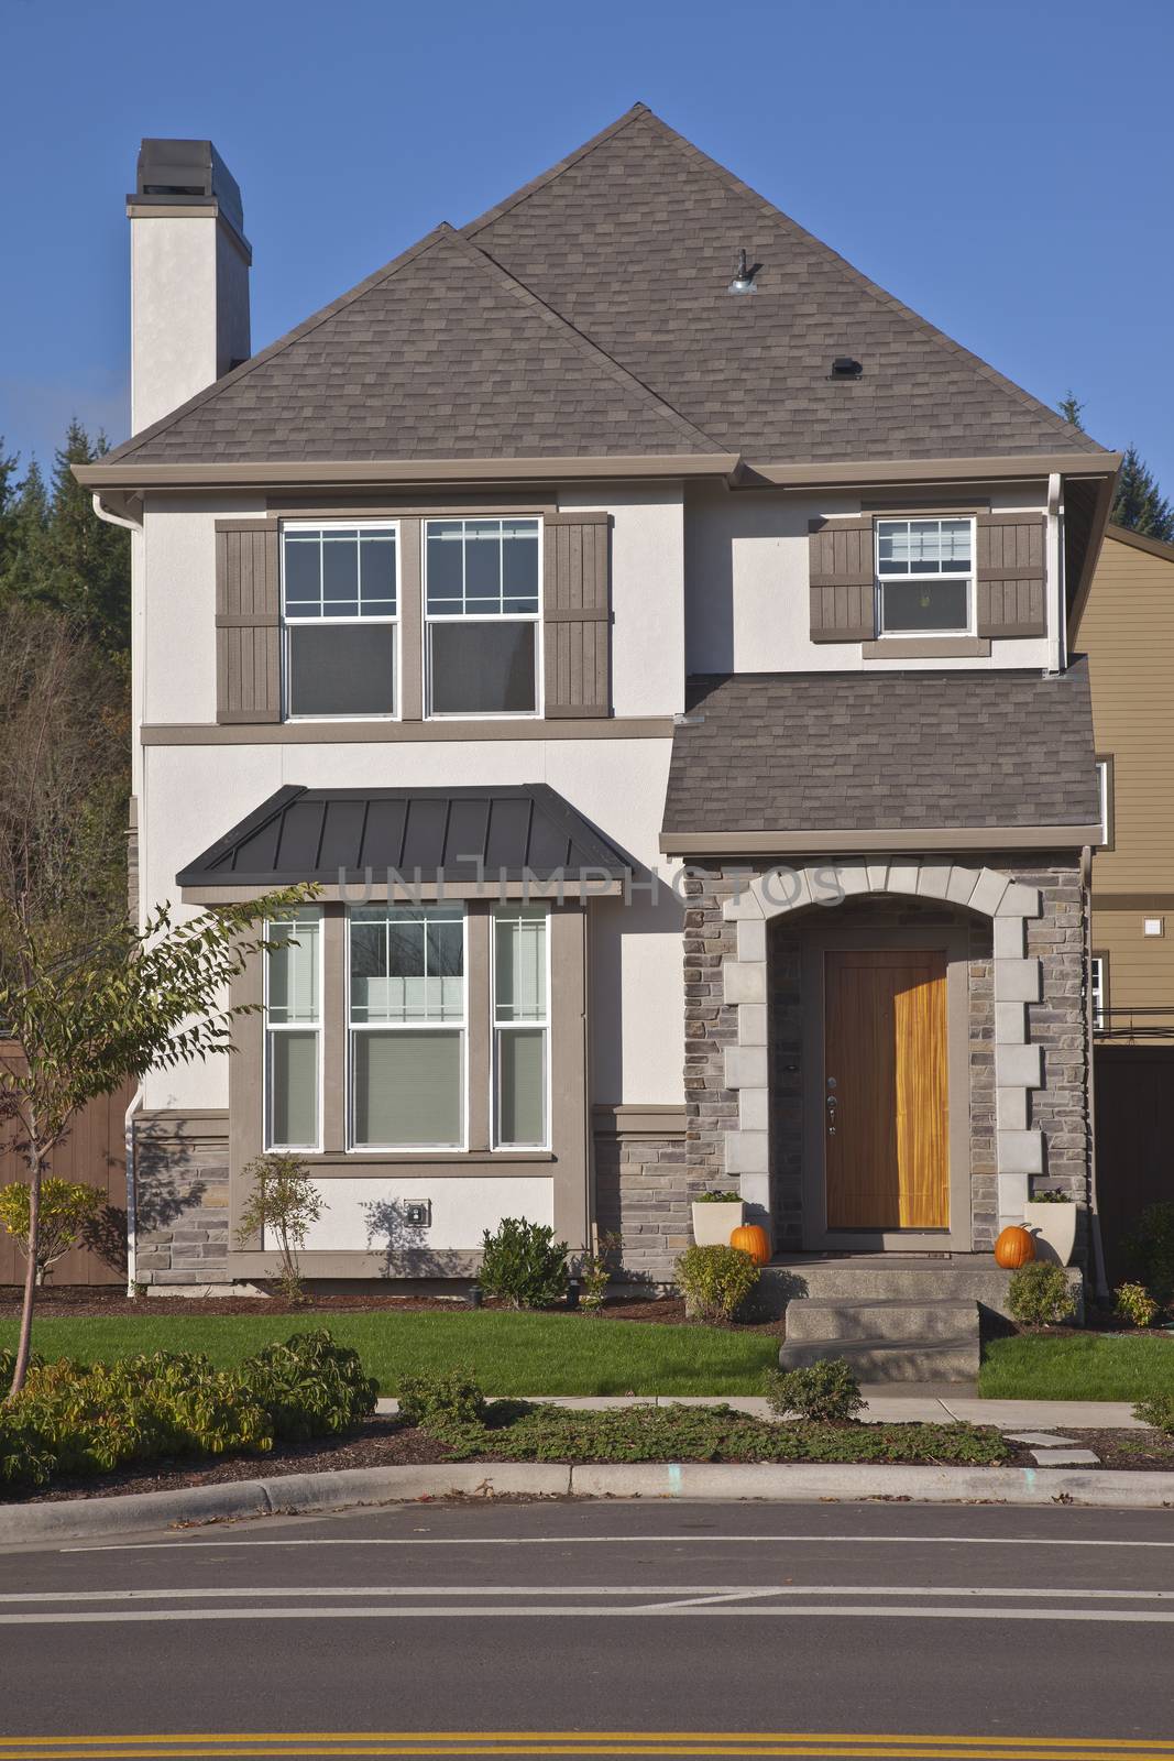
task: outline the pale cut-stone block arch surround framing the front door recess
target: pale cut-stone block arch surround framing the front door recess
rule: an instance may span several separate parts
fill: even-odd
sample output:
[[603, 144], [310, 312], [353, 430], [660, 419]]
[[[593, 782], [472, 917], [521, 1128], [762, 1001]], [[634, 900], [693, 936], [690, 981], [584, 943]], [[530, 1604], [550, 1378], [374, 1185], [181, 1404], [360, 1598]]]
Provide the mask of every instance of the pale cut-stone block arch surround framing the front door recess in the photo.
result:
[[725, 1169], [739, 1176], [750, 1205], [769, 1212], [767, 925], [794, 912], [833, 912], [850, 898], [894, 895], [940, 900], [991, 919], [998, 1215], [1000, 1227], [1023, 1222], [1030, 1176], [1044, 1168], [1042, 1132], [1030, 1125], [1028, 1099], [1042, 1085], [1042, 1048], [1030, 1043], [1026, 1011], [1042, 997], [1040, 962], [1026, 953], [1026, 925], [1040, 916], [1040, 893], [993, 868], [908, 858], [778, 866], [748, 877], [725, 902], [723, 917], [737, 933], [736, 958], [722, 963], [723, 998], [737, 1014], [737, 1043], [725, 1048], [725, 1085], [737, 1094]]

